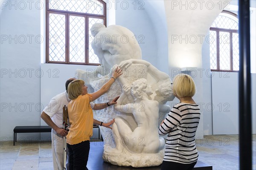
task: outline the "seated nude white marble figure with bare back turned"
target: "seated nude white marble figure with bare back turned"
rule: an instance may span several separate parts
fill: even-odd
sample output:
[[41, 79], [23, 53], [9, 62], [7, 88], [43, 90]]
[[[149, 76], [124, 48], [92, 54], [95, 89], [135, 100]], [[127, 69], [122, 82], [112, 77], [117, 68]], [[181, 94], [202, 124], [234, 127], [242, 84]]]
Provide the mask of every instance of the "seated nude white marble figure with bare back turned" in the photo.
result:
[[[123, 87], [123, 94], [129, 93], [128, 85]], [[123, 113], [132, 113], [137, 127], [132, 130], [122, 118], [116, 118], [112, 125], [116, 148], [107, 153], [122, 153], [125, 148], [131, 153], [158, 153], [165, 146], [165, 141], [159, 137], [158, 126], [158, 102], [148, 99], [152, 94], [151, 86], [146, 79], [138, 79], [131, 84], [131, 95], [134, 103], [125, 105], [116, 104], [116, 110]], [[120, 96], [122, 99], [122, 96]]]

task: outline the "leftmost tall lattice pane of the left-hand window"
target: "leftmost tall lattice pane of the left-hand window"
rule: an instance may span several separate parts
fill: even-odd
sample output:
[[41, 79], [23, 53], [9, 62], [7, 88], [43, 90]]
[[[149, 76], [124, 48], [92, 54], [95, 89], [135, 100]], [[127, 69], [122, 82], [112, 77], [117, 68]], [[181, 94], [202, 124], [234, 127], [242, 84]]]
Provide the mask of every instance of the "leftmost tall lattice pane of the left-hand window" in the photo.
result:
[[49, 61], [65, 61], [65, 15], [49, 14]]

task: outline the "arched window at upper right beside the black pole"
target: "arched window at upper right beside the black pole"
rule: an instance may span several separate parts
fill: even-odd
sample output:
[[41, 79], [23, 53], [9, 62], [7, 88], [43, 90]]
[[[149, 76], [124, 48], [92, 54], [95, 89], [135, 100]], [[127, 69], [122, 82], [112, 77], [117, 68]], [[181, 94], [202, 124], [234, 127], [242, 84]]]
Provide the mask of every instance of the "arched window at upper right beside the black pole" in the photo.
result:
[[212, 71], [239, 71], [238, 18], [222, 11], [210, 28]]

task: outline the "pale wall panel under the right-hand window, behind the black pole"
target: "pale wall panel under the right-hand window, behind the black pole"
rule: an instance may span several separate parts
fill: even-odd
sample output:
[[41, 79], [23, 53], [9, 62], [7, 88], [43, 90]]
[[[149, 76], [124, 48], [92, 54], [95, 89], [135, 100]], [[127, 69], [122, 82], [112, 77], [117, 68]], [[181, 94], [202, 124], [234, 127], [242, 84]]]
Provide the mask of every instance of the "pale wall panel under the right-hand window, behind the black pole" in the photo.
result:
[[[252, 133], [256, 133], [256, 74], [252, 79]], [[239, 75], [235, 72], [213, 72], [212, 74], [212, 122], [213, 134], [239, 133]]]

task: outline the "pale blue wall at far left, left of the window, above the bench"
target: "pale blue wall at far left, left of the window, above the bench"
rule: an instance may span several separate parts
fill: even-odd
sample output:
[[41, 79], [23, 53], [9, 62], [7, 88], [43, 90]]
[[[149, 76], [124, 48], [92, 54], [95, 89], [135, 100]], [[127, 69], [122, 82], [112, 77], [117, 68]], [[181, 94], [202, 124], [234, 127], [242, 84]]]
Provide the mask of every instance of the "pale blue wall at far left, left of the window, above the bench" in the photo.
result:
[[[3, 2], [3, 1], [2, 1]], [[4, 1], [0, 16], [0, 136], [12, 140], [13, 128], [19, 125], [40, 125], [40, 9], [33, 1]], [[38, 36], [38, 37], [37, 37]], [[40, 134], [18, 134], [17, 139]], [[23, 140], [21, 139], [21, 140]]]

